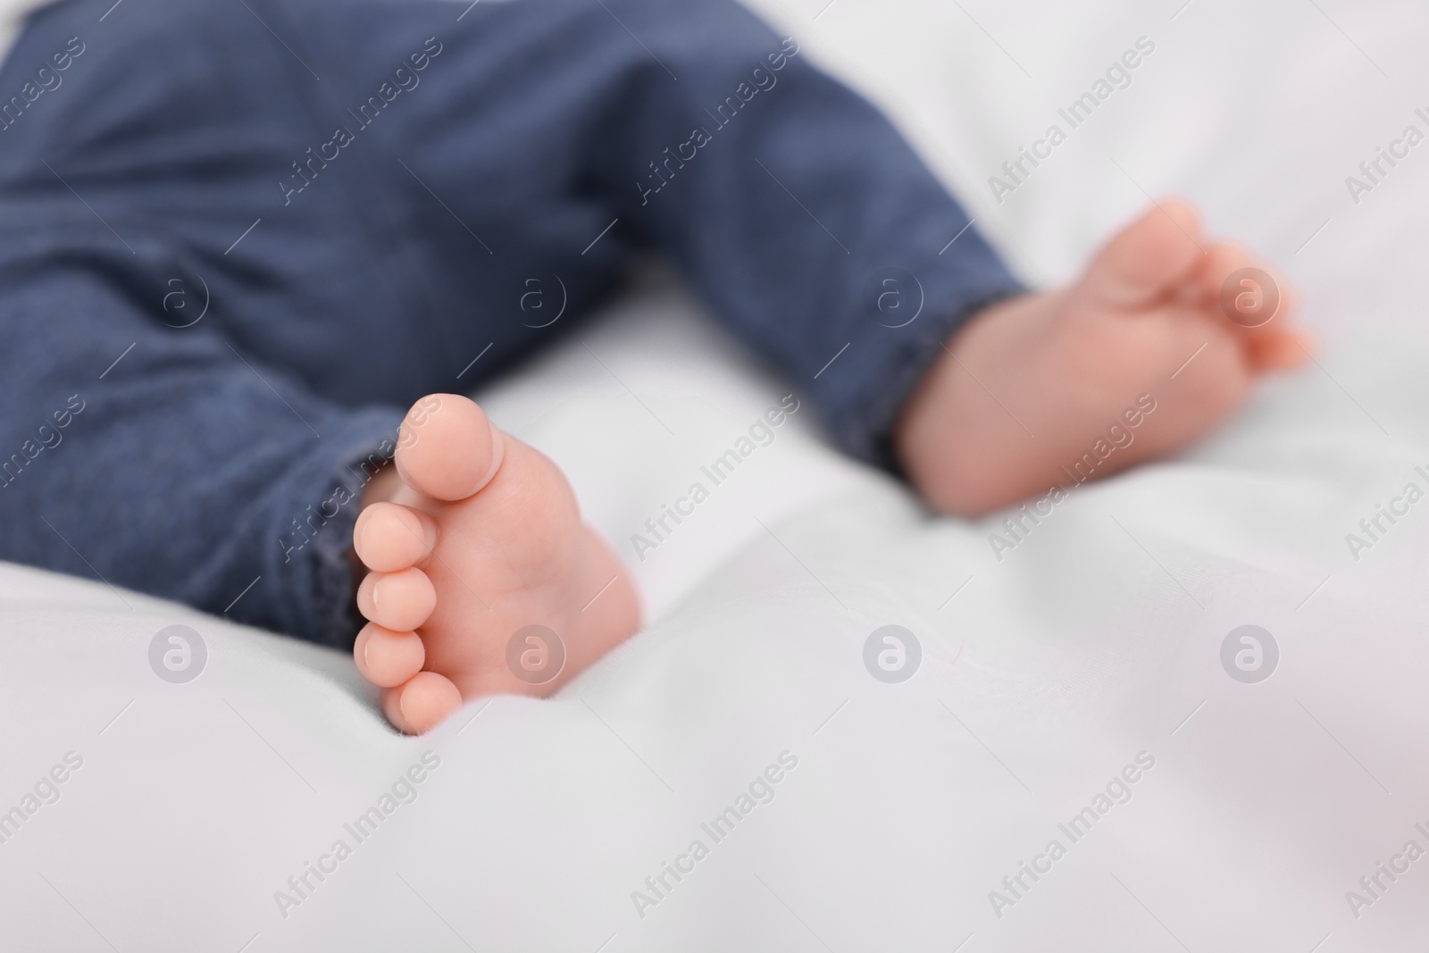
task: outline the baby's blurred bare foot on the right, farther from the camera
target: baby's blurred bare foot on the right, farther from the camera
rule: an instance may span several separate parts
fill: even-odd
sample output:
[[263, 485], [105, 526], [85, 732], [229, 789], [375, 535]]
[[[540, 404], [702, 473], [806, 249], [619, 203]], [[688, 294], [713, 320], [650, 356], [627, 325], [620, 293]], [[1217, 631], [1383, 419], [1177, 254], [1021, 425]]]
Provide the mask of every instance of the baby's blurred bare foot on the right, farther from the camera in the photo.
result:
[[1095, 476], [1193, 441], [1256, 373], [1309, 357], [1283, 283], [1259, 327], [1222, 309], [1222, 286], [1252, 266], [1246, 251], [1205, 239], [1189, 206], [1167, 201], [1112, 239], [1076, 284], [986, 309], [905, 404], [895, 447], [913, 483], [942, 510], [979, 514], [1080, 482], [1067, 467], [1099, 441], [1105, 451], [1112, 424], [1125, 439], [1123, 414], [1143, 394], [1140, 409], [1155, 401], [1155, 413], [1135, 416], [1130, 443]]

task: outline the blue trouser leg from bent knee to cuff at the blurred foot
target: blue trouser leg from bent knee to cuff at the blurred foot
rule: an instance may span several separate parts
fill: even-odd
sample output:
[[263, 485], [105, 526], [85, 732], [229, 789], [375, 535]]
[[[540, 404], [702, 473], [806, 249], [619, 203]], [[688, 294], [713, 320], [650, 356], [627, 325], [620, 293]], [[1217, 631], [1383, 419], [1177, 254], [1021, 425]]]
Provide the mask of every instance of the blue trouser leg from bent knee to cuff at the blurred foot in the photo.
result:
[[813, 394], [840, 447], [893, 466], [895, 417], [942, 343], [1022, 284], [889, 120], [796, 39], [735, 3], [612, 9], [649, 49], [597, 134], [617, 209]]

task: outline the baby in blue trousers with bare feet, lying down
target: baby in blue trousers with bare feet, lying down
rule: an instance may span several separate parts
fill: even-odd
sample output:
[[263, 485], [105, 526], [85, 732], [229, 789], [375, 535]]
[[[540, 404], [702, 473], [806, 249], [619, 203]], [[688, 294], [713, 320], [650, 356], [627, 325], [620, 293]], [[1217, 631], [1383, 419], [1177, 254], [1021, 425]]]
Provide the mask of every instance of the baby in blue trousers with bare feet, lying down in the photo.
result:
[[[0, 70], [0, 557], [353, 646], [413, 733], [640, 624], [556, 466], [452, 393], [640, 254], [945, 513], [1063, 483], [1142, 394], [1096, 476], [1172, 451], [1306, 359], [1179, 201], [1026, 293], [733, 0], [70, 0]], [[895, 271], [925, 306], [890, 327]], [[523, 320], [556, 277], [570, 317]], [[526, 630], [566, 653], [540, 686]]]

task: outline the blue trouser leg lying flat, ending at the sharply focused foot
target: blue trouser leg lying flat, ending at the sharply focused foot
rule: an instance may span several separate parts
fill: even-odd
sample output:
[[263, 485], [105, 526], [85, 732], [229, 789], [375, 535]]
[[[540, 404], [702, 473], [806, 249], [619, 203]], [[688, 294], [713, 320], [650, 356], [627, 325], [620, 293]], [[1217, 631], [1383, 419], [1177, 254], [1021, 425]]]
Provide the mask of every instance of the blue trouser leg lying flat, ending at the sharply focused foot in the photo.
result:
[[[131, 256], [59, 230], [0, 231], [0, 554], [350, 646], [352, 529], [402, 411], [316, 397], [217, 323], [164, 327], [113, 277]], [[176, 324], [203, 306], [183, 293]]]

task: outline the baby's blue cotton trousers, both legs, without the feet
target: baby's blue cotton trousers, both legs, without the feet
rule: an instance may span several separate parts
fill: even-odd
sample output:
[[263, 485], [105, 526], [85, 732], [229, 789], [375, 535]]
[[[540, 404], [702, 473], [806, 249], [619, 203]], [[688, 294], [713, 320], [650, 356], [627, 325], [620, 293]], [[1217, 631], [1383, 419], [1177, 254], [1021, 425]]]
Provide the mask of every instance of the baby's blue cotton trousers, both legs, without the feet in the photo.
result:
[[[885, 466], [942, 341], [1019, 290], [733, 0], [67, 0], [14, 90], [0, 557], [324, 644], [356, 633], [352, 527], [403, 409], [579, 327], [637, 256]], [[549, 273], [572, 317], [533, 329]]]

